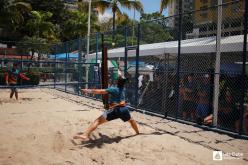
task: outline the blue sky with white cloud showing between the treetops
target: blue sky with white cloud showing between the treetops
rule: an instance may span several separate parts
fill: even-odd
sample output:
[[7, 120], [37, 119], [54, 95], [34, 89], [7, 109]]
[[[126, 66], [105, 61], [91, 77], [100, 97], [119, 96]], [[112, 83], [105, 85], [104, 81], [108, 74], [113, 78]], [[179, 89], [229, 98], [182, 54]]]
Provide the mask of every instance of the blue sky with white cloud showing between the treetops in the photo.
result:
[[[159, 11], [160, 0], [140, 0], [140, 1], [144, 6], [145, 13], [153, 13]], [[130, 18], [134, 17], [133, 10], [122, 9], [122, 11], [127, 13]], [[163, 14], [167, 16], [168, 15], [167, 10], [165, 10]], [[107, 11], [104, 14], [104, 17], [112, 17], [111, 11]], [[139, 18], [140, 18], [140, 14], [138, 12], [135, 12], [135, 19], [139, 20]]]

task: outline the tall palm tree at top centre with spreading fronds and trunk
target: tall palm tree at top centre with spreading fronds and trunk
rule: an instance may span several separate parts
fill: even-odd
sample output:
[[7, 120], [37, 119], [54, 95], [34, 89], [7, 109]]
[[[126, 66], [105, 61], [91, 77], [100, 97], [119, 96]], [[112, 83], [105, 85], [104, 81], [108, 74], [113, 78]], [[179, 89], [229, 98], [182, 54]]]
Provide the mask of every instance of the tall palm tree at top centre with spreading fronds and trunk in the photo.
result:
[[113, 30], [115, 30], [115, 18], [121, 17], [121, 7], [127, 9], [135, 9], [139, 12], [143, 12], [143, 5], [139, 0], [99, 0], [93, 1], [92, 5], [96, 7], [97, 11], [103, 14], [107, 9], [111, 9], [113, 13]]

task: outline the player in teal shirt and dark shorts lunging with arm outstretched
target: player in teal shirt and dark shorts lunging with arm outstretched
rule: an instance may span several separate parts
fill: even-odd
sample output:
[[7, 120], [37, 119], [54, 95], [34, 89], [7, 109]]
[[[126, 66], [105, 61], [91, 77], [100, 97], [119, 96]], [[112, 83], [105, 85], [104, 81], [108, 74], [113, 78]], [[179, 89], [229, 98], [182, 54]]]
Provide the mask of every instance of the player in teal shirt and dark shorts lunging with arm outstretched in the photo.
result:
[[107, 89], [82, 89], [84, 93], [93, 94], [108, 94], [109, 108], [98, 117], [83, 134], [77, 134], [73, 138], [81, 141], [89, 140], [90, 134], [101, 124], [115, 119], [122, 119], [124, 122], [128, 121], [136, 134], [139, 134], [139, 129], [136, 121], [131, 117], [129, 108], [126, 106], [124, 98], [124, 84], [126, 79], [119, 77], [117, 87], [109, 87]]

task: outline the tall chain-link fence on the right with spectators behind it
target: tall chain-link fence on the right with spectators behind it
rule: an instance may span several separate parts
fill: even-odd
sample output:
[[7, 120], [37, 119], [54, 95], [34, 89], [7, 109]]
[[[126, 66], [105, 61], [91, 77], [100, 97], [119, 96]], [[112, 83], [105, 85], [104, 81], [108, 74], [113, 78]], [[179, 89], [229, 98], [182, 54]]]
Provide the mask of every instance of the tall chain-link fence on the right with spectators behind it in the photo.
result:
[[[126, 46], [109, 47], [109, 58], [123, 64], [127, 49], [129, 104], [143, 112], [247, 135], [244, 4], [244, 0], [222, 5], [195, 1], [194, 11], [183, 8], [181, 15], [178, 11], [174, 16], [141, 21], [140, 29], [126, 27]], [[130, 36], [136, 43], [128, 41]]]

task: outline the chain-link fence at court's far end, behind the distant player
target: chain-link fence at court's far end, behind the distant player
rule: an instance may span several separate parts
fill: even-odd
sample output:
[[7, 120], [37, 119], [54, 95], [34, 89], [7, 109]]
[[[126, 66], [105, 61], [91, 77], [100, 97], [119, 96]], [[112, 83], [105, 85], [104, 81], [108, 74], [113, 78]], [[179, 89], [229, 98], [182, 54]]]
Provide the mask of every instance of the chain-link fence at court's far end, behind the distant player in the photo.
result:
[[6, 86], [6, 75], [14, 65], [30, 80], [17, 77], [18, 88], [49, 87], [81, 95], [80, 89], [100, 86], [99, 64], [86, 61], [86, 40], [58, 44], [16, 43], [14, 48], [1, 48], [0, 87]]

